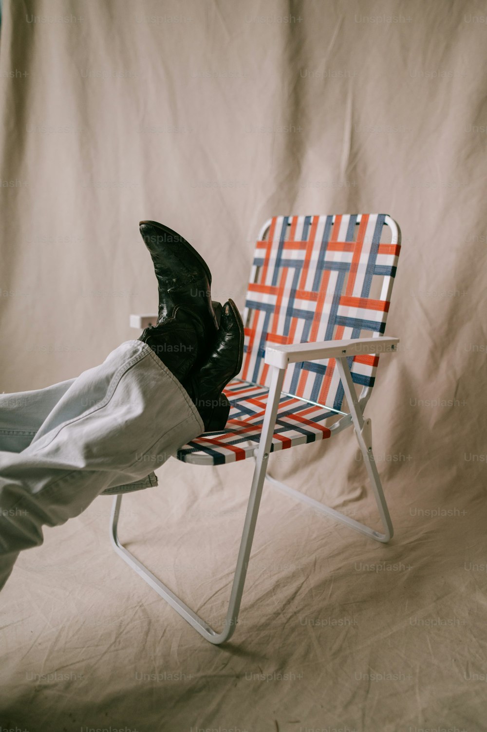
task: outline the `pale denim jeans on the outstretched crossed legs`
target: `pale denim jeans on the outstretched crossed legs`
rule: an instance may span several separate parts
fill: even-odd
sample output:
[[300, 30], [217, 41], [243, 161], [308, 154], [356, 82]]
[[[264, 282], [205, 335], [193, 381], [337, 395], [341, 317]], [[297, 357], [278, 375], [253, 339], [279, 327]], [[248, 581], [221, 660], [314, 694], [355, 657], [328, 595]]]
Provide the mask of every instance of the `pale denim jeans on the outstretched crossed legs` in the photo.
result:
[[185, 389], [139, 340], [78, 378], [0, 395], [0, 589], [19, 552], [42, 544], [42, 525], [77, 516], [107, 488], [152, 485], [147, 466], [203, 431]]

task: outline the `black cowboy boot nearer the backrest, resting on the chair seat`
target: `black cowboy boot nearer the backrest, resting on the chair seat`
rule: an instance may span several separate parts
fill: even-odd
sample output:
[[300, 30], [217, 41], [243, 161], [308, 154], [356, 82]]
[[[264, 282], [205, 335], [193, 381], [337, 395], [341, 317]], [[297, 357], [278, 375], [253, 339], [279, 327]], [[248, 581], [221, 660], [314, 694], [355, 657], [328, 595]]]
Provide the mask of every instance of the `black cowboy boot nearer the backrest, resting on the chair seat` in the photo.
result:
[[243, 346], [242, 318], [229, 299], [223, 305], [220, 329], [209, 357], [201, 369], [193, 368], [182, 381], [207, 432], [223, 430], [226, 425], [230, 403], [221, 392], [242, 368]]

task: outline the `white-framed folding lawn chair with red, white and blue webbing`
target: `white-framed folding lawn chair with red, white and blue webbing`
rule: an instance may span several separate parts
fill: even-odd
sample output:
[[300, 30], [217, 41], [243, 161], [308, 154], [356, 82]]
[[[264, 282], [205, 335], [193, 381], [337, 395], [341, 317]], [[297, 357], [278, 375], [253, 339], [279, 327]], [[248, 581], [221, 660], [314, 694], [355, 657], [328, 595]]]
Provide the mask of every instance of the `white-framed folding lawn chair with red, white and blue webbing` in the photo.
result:
[[[385, 214], [279, 216], [261, 229], [245, 302], [242, 373], [225, 389], [231, 402], [226, 428], [204, 433], [176, 455], [201, 466], [256, 461], [221, 632], [124, 548], [117, 536], [122, 495], [114, 500], [111, 539], [116, 552], [210, 643], [228, 641], [237, 627], [264, 479], [372, 539], [388, 542], [393, 536], [373, 459], [371, 419], [363, 411], [379, 353], [398, 347], [398, 338], [384, 337], [384, 329], [400, 248], [399, 227]], [[132, 315], [130, 323], [141, 329], [154, 324], [155, 316]], [[362, 387], [360, 395], [356, 385]], [[267, 474], [270, 452], [330, 438], [352, 425], [383, 533]], [[153, 485], [153, 479], [147, 480]]]

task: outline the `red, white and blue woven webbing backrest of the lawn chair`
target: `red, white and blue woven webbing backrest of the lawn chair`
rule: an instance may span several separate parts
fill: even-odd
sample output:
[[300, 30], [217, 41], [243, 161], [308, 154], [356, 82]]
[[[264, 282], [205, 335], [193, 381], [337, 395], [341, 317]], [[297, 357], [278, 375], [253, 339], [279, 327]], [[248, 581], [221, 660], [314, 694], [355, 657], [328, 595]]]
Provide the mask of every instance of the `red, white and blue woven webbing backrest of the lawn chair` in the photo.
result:
[[[380, 243], [384, 223], [393, 230], [392, 243]], [[256, 244], [245, 302], [242, 378], [269, 386], [267, 343], [384, 333], [401, 248], [390, 217], [278, 216], [266, 231]], [[354, 383], [373, 386], [378, 362], [379, 356], [350, 358]], [[283, 391], [340, 410], [335, 359], [290, 365]]]

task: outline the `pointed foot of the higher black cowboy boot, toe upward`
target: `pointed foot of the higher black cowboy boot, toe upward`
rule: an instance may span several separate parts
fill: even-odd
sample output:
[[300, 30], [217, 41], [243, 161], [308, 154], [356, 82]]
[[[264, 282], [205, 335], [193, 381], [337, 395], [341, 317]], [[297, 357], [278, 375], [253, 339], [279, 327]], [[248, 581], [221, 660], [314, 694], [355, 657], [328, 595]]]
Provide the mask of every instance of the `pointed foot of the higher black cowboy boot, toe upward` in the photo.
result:
[[[200, 324], [203, 342], [209, 353], [218, 330], [217, 314], [220, 315], [221, 305], [212, 302], [212, 275], [207, 263], [186, 239], [168, 226], [157, 221], [141, 221], [140, 231], [157, 277], [157, 323], [171, 318], [178, 305], [190, 307], [193, 317]], [[203, 349], [200, 349], [197, 356], [200, 363], [203, 356]]]

